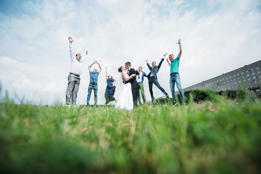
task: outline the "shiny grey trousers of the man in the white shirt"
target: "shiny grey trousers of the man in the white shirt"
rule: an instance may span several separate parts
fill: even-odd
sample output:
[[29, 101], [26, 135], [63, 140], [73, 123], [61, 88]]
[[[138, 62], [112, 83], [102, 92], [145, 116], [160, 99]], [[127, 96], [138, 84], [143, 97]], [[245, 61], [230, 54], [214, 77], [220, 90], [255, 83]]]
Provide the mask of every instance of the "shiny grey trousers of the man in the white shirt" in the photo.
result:
[[[76, 104], [77, 99], [77, 93], [80, 86], [80, 77], [77, 77], [75, 75], [69, 74], [68, 75], [68, 86], [66, 90], [66, 104]], [[72, 98], [72, 102], [71, 102]]]

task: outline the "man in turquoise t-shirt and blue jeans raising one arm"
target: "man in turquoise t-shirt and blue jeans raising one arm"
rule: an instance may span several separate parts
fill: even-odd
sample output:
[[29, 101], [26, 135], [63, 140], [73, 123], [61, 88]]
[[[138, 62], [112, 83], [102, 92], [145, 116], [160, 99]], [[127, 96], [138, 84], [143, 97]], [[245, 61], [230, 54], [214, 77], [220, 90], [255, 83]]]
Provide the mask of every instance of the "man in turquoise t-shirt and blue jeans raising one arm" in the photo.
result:
[[182, 53], [182, 47], [181, 47], [181, 39], [178, 39], [179, 44], [179, 54], [176, 59], [174, 59], [173, 55], [169, 55], [169, 59], [167, 58], [167, 62], [170, 66], [170, 91], [172, 93], [172, 99], [173, 99], [173, 107], [178, 104], [177, 97], [175, 94], [175, 83], [177, 84], [177, 88], [179, 89], [179, 94], [181, 97], [181, 106], [184, 106], [184, 93], [183, 89], [181, 87], [181, 80], [179, 76], [179, 59], [181, 57]]

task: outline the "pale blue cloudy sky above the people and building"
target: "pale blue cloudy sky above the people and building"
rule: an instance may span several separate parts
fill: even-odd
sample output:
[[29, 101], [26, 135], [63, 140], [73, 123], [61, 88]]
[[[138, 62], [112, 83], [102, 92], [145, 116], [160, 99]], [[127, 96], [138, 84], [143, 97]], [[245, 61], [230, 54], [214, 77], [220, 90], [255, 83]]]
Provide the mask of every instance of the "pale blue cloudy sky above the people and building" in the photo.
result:
[[[181, 38], [179, 73], [186, 88], [261, 60], [260, 26], [260, 0], [1, 0], [0, 97], [8, 91], [16, 103], [65, 104], [69, 36], [75, 54], [88, 50], [77, 104], [86, 104], [88, 66], [94, 60], [102, 66], [98, 104], [104, 104], [105, 66], [117, 78], [117, 69], [126, 61], [149, 73], [146, 59], [158, 65], [165, 52], [177, 56]], [[157, 77], [171, 96], [166, 61]], [[119, 85], [115, 85], [116, 99]], [[149, 101], [146, 77], [144, 88]], [[156, 98], [163, 96], [156, 86], [153, 92]]]

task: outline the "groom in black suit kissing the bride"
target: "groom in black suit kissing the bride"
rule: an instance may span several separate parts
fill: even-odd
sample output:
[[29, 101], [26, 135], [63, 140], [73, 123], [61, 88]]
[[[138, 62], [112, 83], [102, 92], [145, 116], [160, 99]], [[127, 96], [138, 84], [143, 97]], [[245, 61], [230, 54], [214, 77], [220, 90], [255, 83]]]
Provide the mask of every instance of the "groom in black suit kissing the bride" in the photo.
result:
[[[126, 62], [125, 68], [127, 70], [127, 74], [130, 76], [132, 74], [135, 74], [135, 70], [132, 68], [132, 64], [130, 62]], [[125, 81], [125, 84], [131, 83], [132, 85], [132, 98], [133, 98], [133, 104], [134, 106], [138, 106], [138, 95], [137, 95], [137, 89], [139, 89], [139, 85], [136, 81], [136, 78], [129, 79], [129, 81]]]

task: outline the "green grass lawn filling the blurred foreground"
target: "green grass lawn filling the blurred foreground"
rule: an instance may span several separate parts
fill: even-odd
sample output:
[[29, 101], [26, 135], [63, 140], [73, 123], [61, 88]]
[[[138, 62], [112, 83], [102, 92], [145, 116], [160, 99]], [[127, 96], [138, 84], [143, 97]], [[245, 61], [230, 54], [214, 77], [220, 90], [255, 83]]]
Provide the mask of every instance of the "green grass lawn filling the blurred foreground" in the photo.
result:
[[0, 104], [1, 173], [260, 173], [260, 103]]

